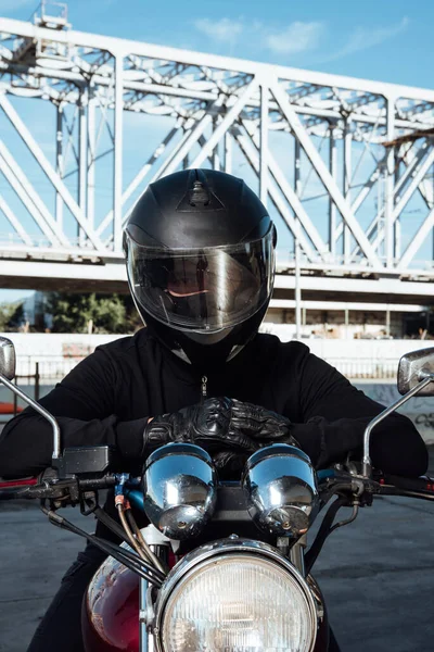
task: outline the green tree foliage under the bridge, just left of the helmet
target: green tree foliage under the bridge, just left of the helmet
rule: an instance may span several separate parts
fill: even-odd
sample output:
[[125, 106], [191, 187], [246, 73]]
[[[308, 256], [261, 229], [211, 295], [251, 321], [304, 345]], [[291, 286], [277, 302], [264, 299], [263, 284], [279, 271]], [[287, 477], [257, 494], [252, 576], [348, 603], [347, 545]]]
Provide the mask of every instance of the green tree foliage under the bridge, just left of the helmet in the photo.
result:
[[139, 325], [132, 300], [123, 294], [52, 292], [48, 312], [53, 333], [130, 333]]

